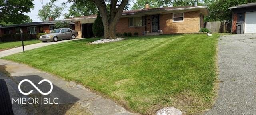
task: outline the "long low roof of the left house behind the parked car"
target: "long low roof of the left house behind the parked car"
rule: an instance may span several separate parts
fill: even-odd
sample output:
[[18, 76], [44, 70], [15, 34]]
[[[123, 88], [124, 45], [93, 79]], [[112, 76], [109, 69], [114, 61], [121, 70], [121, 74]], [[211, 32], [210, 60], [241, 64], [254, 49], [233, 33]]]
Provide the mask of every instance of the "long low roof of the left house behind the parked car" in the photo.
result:
[[[10, 26], [0, 26], [0, 28], [10, 28], [10, 27], [20, 27], [20, 26], [36, 26], [36, 25], [46, 25], [46, 24], [55, 24], [56, 22], [64, 22], [63, 20], [54, 20], [54, 21], [46, 21], [46, 22], [30, 22], [24, 24], [14, 24]], [[75, 24], [74, 22], [68, 21], [69, 24]]]

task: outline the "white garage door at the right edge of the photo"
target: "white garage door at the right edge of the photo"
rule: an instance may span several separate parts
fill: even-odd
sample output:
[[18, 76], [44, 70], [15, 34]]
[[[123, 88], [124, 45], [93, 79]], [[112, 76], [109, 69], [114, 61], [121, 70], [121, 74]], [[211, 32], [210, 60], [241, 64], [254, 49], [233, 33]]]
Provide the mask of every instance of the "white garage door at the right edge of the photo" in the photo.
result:
[[244, 33], [256, 33], [256, 12], [247, 12]]

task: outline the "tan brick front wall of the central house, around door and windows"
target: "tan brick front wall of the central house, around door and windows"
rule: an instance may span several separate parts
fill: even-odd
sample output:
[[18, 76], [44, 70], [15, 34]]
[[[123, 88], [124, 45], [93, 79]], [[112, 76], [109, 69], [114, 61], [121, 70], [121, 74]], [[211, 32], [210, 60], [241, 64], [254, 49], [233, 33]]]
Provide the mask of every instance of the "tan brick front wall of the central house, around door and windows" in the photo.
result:
[[[173, 22], [172, 13], [160, 14], [160, 30], [163, 34], [175, 34], [175, 33], [196, 33], [199, 32], [200, 27], [203, 27], [203, 17], [201, 16], [200, 23], [200, 12], [184, 12], [184, 22]], [[120, 18], [116, 25], [116, 33], [123, 34], [124, 32], [138, 32], [139, 35], [146, 30], [151, 33], [151, 15], [147, 16], [145, 26], [129, 26], [129, 18]]]

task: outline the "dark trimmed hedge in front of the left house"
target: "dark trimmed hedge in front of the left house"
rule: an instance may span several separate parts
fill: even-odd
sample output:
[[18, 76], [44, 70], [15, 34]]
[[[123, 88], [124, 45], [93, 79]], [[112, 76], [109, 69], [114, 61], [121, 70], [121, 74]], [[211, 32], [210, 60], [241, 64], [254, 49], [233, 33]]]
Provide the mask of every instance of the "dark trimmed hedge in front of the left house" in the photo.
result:
[[[22, 34], [23, 40], [36, 40], [36, 34]], [[2, 42], [21, 41], [20, 34], [3, 34], [0, 38]]]

